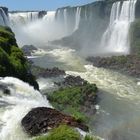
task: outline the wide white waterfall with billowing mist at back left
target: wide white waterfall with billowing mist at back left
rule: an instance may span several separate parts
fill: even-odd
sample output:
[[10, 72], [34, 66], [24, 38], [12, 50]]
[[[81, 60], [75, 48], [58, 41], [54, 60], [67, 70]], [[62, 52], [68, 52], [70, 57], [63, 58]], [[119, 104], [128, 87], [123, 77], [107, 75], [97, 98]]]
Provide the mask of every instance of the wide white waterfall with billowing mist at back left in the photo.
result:
[[[29, 15], [29, 16], [28, 16]], [[10, 26], [13, 29], [19, 46], [32, 44], [46, 46], [48, 41], [56, 40], [65, 35], [64, 27], [55, 21], [55, 11], [48, 11], [42, 19], [35, 18], [38, 12], [9, 13]]]

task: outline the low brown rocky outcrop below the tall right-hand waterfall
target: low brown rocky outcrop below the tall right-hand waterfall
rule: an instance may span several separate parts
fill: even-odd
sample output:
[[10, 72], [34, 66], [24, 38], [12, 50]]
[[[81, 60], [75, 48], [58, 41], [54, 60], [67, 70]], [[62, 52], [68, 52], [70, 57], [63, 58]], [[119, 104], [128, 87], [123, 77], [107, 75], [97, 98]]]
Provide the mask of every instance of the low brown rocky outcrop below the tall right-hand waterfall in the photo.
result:
[[112, 56], [112, 57], [89, 57], [88, 61], [96, 67], [123, 72], [130, 76], [140, 77], [140, 57], [139, 55]]

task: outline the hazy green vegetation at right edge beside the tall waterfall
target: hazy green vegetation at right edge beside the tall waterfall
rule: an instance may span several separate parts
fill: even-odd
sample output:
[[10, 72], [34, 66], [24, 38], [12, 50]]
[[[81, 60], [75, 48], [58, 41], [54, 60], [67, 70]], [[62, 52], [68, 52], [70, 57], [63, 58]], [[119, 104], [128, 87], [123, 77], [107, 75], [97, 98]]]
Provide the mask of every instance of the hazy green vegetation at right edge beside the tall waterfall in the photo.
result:
[[130, 29], [131, 51], [140, 54], [140, 19], [135, 20]]

